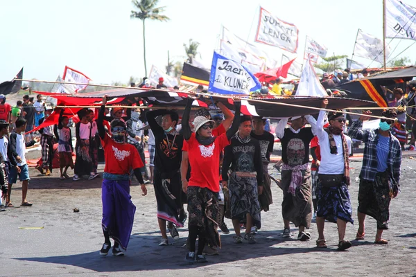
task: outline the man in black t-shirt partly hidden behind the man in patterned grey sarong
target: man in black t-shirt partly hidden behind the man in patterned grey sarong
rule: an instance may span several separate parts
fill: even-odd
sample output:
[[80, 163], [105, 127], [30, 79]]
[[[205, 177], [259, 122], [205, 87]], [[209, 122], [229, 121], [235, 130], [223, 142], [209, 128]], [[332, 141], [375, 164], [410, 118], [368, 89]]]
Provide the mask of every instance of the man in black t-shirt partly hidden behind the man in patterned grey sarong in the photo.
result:
[[259, 202], [262, 211], [267, 212], [269, 205], [273, 203], [272, 190], [270, 188], [271, 179], [268, 175], [268, 164], [270, 163], [270, 154], [273, 152], [273, 145], [275, 144], [275, 136], [267, 132], [266, 118], [261, 116], [254, 117], [253, 130], [250, 136], [257, 139], [260, 143], [261, 159], [263, 161], [263, 193], [259, 195]]

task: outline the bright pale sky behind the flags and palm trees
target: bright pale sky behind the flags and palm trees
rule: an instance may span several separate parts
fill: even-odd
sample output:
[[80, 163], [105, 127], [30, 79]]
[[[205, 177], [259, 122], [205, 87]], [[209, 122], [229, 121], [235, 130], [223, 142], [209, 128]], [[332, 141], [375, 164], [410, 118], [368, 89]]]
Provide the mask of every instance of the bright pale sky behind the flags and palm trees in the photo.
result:
[[[416, 6], [416, 0], [406, 3]], [[160, 0], [159, 6], [166, 6], [171, 20], [146, 22], [148, 72], [152, 64], [164, 69], [167, 51], [172, 60], [183, 61], [183, 44], [190, 38], [200, 42], [202, 60], [209, 65], [222, 25], [254, 43], [259, 6], [300, 30], [300, 62], [306, 35], [327, 46], [328, 55], [349, 56], [358, 28], [382, 37], [382, 0]], [[130, 19], [132, 8], [129, 0], [1, 1], [0, 82], [10, 80], [21, 66], [27, 79], [55, 80], [65, 65], [96, 83], [143, 77], [142, 26], [138, 19]], [[399, 46], [393, 55], [412, 43], [395, 39], [392, 48]], [[279, 48], [254, 44], [279, 60]], [[403, 54], [413, 63], [415, 48]]]

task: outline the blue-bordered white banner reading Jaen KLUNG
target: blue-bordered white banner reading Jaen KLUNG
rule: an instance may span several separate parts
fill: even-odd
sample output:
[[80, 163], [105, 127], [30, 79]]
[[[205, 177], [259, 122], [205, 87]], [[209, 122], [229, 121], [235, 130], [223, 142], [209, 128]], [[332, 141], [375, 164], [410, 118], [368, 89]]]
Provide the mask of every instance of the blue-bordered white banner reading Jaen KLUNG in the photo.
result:
[[212, 57], [209, 91], [220, 94], [249, 94], [261, 88], [259, 80], [239, 62], [216, 52]]

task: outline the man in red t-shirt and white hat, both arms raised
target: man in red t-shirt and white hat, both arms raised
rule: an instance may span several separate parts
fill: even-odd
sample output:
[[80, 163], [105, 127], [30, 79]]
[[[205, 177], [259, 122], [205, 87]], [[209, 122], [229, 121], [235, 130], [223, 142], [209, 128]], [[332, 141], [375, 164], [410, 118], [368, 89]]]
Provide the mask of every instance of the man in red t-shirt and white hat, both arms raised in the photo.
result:
[[[189, 126], [189, 114], [193, 99], [189, 98], [182, 116], [184, 146], [180, 172], [182, 189], [188, 197], [189, 253], [187, 262], [207, 262], [203, 254], [205, 244], [220, 247], [217, 231], [218, 191], [220, 190], [220, 153], [234, 136], [240, 123], [241, 102], [234, 101], [236, 116], [227, 132], [213, 136], [214, 120], [205, 116], [196, 116], [193, 120], [195, 132]], [[191, 177], [187, 180], [188, 165], [191, 165]], [[196, 238], [199, 236], [198, 252], [195, 253]]]

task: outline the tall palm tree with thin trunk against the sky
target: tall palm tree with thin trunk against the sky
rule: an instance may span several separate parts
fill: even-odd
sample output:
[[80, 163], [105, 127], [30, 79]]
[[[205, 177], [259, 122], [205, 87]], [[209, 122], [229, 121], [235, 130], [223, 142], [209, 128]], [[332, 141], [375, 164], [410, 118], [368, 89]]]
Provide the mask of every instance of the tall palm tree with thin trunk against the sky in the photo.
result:
[[146, 19], [158, 20], [158, 21], [168, 21], [169, 17], [166, 15], [161, 15], [164, 12], [166, 7], [156, 7], [159, 0], [132, 0], [133, 5], [139, 9], [139, 11], [132, 10], [130, 18], [138, 18], [143, 22], [143, 55], [144, 55], [144, 72], [147, 76], [147, 67], [146, 67], [146, 35], [144, 28], [144, 21]]

